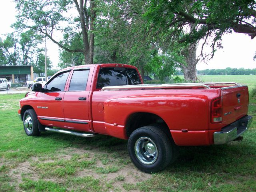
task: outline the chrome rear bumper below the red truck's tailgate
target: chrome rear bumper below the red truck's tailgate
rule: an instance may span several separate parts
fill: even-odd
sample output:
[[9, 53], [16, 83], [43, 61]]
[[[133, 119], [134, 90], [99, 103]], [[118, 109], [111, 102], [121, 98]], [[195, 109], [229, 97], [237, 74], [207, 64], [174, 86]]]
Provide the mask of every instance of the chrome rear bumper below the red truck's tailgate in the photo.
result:
[[246, 115], [234, 123], [224, 127], [221, 131], [214, 132], [214, 144], [225, 144], [242, 135], [252, 124], [252, 116]]

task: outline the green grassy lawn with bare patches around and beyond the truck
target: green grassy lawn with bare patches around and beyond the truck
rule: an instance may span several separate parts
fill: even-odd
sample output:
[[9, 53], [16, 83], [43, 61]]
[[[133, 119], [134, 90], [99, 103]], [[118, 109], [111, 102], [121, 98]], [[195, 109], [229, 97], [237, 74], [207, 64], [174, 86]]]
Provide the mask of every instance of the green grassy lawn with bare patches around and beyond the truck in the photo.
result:
[[[256, 84], [252, 76], [201, 76], [204, 81]], [[250, 91], [249, 90], [249, 91]], [[127, 141], [53, 132], [26, 136], [18, 120], [24, 94], [0, 95], [0, 191], [256, 191], [256, 98], [252, 127], [241, 142], [182, 147], [174, 164], [157, 174], [131, 163]]]

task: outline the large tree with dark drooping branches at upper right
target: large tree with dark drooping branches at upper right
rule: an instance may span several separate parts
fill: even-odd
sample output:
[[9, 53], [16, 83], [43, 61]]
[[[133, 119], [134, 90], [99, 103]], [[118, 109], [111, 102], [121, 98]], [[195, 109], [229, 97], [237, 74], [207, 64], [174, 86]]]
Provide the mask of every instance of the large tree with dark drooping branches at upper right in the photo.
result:
[[[254, 0], [152, 0], [149, 5], [145, 18], [150, 28], [156, 31], [162, 47], [178, 46], [180, 53], [186, 52], [188, 56], [195, 56], [194, 48], [199, 40], [203, 40], [201, 56], [204, 59], [207, 58], [204, 46], [212, 46], [209, 54], [212, 58], [216, 47], [222, 47], [221, 38], [225, 33], [248, 34], [252, 39], [256, 36]], [[193, 70], [190, 72], [194, 76], [187, 76], [188, 80], [196, 78], [196, 68], [191, 67], [196, 62], [193, 60], [181, 65], [186, 69], [184, 73]]]

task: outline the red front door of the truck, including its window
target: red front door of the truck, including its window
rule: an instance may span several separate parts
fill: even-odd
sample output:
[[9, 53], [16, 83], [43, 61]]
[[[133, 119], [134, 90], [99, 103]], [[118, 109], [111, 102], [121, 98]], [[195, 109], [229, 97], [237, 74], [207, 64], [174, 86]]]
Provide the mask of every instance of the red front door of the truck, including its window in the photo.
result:
[[64, 127], [63, 98], [70, 70], [54, 76], [45, 86], [45, 92], [38, 92], [36, 113], [40, 122], [48, 126]]

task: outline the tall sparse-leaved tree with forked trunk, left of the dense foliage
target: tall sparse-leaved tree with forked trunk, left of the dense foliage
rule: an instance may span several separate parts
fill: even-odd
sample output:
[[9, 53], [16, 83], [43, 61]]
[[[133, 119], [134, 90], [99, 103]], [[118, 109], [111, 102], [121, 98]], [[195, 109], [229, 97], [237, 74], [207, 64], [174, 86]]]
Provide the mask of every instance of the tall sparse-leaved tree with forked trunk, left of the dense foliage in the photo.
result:
[[[17, 30], [31, 29], [44, 34], [60, 48], [68, 52], [84, 54], [86, 64], [92, 64], [94, 52], [94, 20], [96, 18], [94, 0], [14, 0], [18, 14], [14, 24]], [[78, 15], [70, 14], [72, 9]], [[62, 34], [81, 33], [82, 48], [65, 46], [56, 31]]]

